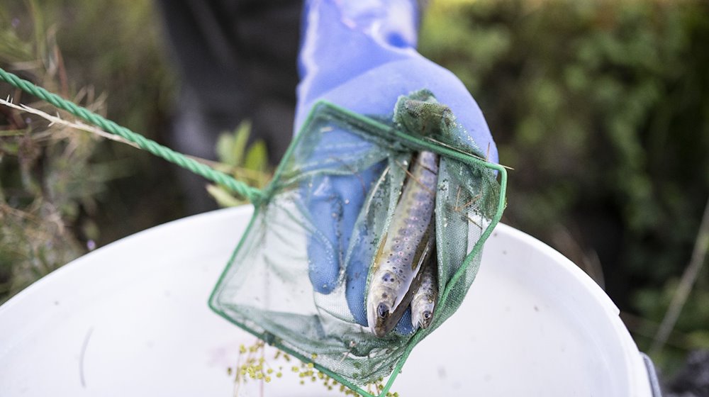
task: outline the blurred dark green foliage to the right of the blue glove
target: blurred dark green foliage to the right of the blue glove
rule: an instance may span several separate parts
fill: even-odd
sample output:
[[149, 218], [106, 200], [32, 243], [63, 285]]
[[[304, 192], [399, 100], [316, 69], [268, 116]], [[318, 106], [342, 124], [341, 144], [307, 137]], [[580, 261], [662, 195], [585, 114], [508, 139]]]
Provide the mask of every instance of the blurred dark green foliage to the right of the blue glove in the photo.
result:
[[[596, 251], [647, 348], [709, 195], [709, 3], [438, 1], [420, 51], [468, 86], [515, 168], [506, 222]], [[705, 269], [679, 347], [709, 347], [708, 298]]]

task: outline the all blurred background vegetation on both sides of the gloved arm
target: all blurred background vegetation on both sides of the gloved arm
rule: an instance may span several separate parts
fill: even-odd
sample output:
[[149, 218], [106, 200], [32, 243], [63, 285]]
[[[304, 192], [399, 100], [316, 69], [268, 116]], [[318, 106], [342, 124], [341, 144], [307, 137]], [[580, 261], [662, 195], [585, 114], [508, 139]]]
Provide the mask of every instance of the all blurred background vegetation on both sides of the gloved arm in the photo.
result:
[[[165, 142], [177, 86], [161, 35], [148, 0], [6, 1], [0, 66]], [[596, 279], [649, 350], [709, 197], [709, 3], [438, 0], [420, 51], [467, 84], [514, 168], [503, 221]], [[0, 96], [55, 113], [4, 84]], [[264, 148], [247, 149], [245, 130], [220, 140], [220, 167], [261, 184]], [[0, 303], [88, 250], [184, 216], [174, 171], [0, 106]], [[709, 348], [708, 302], [703, 269], [652, 354], [666, 374]]]

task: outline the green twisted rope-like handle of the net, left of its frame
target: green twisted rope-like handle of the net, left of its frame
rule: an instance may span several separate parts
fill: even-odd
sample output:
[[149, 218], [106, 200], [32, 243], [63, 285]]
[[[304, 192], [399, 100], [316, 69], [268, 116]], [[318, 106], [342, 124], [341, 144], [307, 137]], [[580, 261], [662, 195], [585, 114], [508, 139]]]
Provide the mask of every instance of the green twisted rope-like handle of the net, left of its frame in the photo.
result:
[[97, 115], [96, 113], [89, 111], [89, 109], [87, 108], [78, 106], [77, 104], [74, 104], [71, 101], [63, 99], [57, 94], [52, 94], [51, 92], [43, 89], [40, 86], [35, 86], [35, 84], [32, 84], [31, 82], [17, 77], [15, 74], [6, 72], [1, 67], [0, 79], [4, 80], [8, 84], [11, 84], [12, 86], [18, 89], [21, 89], [22, 91], [27, 92], [28, 94], [32, 94], [34, 96], [37, 96], [39, 99], [47, 101], [48, 103], [56, 106], [57, 108], [72, 113], [74, 116], [77, 116], [78, 118], [81, 118], [82, 120], [87, 121], [91, 124], [94, 124], [108, 133], [118, 135], [125, 140], [133, 142], [141, 149], [146, 150], [147, 152], [150, 152], [153, 155], [156, 155], [157, 157], [162, 157], [164, 160], [177, 164], [185, 169], [189, 169], [189, 171], [194, 172], [195, 174], [201, 175], [202, 177], [205, 177], [210, 181], [223, 185], [227, 189], [230, 189], [231, 191], [235, 192], [236, 194], [247, 198], [247, 200], [251, 201], [252, 203], [259, 203], [259, 201], [264, 198], [264, 194], [259, 189], [256, 189], [252, 186], [248, 186], [243, 182], [237, 181], [233, 177], [230, 177], [228, 174], [217, 171], [216, 169], [213, 169], [206, 164], [202, 164], [194, 159], [186, 157], [182, 153], [175, 152], [169, 147], [165, 147], [155, 142], [154, 140], [145, 138], [143, 135], [134, 133], [133, 131], [123, 127], [122, 125], [118, 125], [113, 121], [110, 121], [106, 118]]

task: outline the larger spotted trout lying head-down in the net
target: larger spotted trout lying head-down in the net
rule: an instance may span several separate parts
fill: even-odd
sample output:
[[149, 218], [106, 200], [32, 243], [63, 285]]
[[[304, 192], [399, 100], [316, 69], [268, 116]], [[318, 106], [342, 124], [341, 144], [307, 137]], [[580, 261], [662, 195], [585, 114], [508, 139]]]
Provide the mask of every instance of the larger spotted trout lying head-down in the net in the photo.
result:
[[367, 293], [367, 322], [377, 337], [391, 331], [418, 289], [423, 264], [435, 256], [438, 156], [420, 152], [374, 257]]

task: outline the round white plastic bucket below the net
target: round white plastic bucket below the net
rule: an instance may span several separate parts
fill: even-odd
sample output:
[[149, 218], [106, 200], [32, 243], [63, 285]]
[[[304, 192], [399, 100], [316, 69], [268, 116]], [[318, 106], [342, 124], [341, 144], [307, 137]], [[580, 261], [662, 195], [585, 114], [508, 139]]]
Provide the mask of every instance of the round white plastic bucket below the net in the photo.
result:
[[[251, 213], [214, 211], [126, 237], [0, 306], [0, 396], [233, 396], [227, 368], [254, 337], [206, 302]], [[264, 395], [338, 395], [302, 386], [291, 366]], [[251, 384], [240, 395], [259, 396]], [[608, 296], [558, 252], [506, 225], [487, 242], [462, 307], [413, 350], [392, 391], [652, 396]]]

